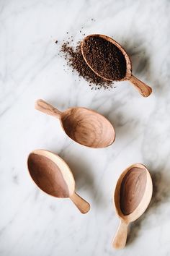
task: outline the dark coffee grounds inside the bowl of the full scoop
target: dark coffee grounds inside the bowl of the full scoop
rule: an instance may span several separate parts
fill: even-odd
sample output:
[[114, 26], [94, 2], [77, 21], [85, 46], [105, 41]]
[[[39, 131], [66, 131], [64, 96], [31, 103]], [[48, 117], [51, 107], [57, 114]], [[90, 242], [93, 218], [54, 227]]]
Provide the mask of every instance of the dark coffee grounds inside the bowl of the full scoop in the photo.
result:
[[84, 41], [84, 56], [97, 74], [109, 80], [121, 80], [126, 74], [125, 56], [117, 46], [99, 36]]

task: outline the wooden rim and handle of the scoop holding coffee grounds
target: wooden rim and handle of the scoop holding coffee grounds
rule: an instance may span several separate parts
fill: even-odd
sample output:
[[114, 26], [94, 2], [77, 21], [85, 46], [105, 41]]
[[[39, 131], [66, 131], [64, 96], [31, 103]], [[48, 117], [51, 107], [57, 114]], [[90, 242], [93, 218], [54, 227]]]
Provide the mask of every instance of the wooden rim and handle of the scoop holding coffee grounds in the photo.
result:
[[[130, 57], [128, 56], [128, 54], [126, 53], [124, 48], [122, 48], [122, 46], [120, 46], [119, 43], [117, 43], [112, 38], [109, 38], [107, 35], [97, 35], [97, 34], [87, 35], [84, 38], [84, 40], [82, 41], [82, 43], [81, 43], [81, 52], [82, 52], [82, 55], [84, 57], [84, 60], [86, 61], [86, 64], [88, 64], [88, 66], [94, 71], [94, 73], [96, 73], [97, 75], [99, 75], [99, 77], [102, 77], [105, 80], [112, 81], [112, 79], [110, 77], [103, 77], [100, 74], [99, 71], [97, 72], [97, 69], [95, 69], [95, 67], [91, 67], [91, 65], [89, 64], [89, 61], [87, 61], [87, 59], [86, 59], [87, 55], [86, 55], [86, 52], [84, 51], [84, 47], [86, 45], [87, 40], [89, 40], [89, 38], [91, 38], [91, 37], [103, 38], [104, 40], [107, 40], [110, 43], [113, 43], [115, 46], [117, 46], [117, 48], [124, 55], [125, 61], [126, 61], [126, 74], [125, 74], [125, 77], [123, 77], [122, 79], [117, 80], [117, 81], [124, 81], [124, 80], [130, 81], [135, 86], [135, 88], [139, 91], [139, 93], [141, 95], [143, 95], [143, 97], [148, 97], [151, 94], [151, 92], [152, 92], [151, 87], [146, 85], [144, 82], [138, 80], [138, 78], [134, 77], [134, 75], [132, 74], [132, 64], [131, 64], [131, 61], [130, 61]], [[91, 48], [92, 48], [92, 46], [91, 46]], [[97, 56], [94, 56], [94, 58], [97, 58]]]

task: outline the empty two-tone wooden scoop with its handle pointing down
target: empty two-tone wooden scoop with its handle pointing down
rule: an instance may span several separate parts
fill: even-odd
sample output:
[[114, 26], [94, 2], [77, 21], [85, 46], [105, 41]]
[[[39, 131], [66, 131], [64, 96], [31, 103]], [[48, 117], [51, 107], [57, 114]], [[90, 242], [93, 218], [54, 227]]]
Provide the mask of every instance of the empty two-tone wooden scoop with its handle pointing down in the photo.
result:
[[120, 226], [113, 239], [113, 247], [125, 247], [128, 224], [139, 218], [151, 201], [152, 179], [147, 168], [141, 163], [128, 167], [120, 175], [115, 187], [115, 210], [120, 218]]

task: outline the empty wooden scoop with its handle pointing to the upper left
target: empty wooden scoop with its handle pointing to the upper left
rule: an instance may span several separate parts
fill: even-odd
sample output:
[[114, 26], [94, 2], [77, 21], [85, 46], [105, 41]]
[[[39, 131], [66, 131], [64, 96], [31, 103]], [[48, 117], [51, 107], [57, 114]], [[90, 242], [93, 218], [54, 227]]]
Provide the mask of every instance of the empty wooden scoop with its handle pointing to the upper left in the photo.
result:
[[45, 101], [38, 100], [35, 108], [61, 121], [61, 126], [72, 140], [90, 148], [105, 148], [115, 140], [112, 124], [101, 114], [88, 108], [68, 108], [59, 111]]

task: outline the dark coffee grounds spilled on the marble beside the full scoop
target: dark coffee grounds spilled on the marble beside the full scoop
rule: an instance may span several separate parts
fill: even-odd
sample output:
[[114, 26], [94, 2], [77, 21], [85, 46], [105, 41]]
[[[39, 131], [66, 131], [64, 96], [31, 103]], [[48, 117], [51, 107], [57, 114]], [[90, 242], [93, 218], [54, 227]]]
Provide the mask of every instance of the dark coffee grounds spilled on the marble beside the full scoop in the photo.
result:
[[91, 89], [112, 88], [112, 81], [102, 79], [102, 77], [95, 74], [86, 64], [81, 54], [81, 42], [78, 42], [74, 48], [71, 46], [71, 42], [67, 41], [61, 46], [61, 52], [64, 54], [68, 66], [76, 70], [76, 72], [79, 73], [79, 77], [84, 77], [84, 79], [89, 82]]

